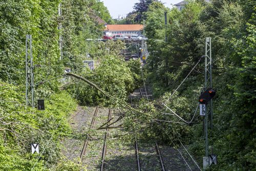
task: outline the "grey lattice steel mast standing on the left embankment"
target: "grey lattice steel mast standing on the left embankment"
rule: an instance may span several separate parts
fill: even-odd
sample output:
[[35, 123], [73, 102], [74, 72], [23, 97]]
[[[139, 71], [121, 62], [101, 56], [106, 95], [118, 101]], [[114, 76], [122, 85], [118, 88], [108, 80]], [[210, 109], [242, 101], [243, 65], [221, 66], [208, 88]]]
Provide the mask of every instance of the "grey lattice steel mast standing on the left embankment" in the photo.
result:
[[26, 105], [34, 108], [32, 35], [26, 35]]

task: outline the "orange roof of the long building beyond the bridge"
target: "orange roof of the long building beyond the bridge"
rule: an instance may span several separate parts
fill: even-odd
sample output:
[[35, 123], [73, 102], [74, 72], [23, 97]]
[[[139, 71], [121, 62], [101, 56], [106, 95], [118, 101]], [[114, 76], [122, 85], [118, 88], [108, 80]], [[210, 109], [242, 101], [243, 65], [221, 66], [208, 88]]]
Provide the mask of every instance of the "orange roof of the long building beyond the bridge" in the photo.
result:
[[108, 25], [105, 31], [139, 31], [143, 25]]

